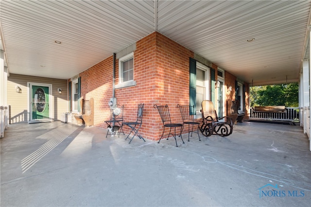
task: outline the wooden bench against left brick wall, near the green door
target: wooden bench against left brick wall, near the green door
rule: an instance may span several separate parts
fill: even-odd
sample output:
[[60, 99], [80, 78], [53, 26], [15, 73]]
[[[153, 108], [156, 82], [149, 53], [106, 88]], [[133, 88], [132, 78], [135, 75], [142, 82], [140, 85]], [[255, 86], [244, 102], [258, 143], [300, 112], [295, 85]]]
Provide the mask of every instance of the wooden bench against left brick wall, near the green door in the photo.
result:
[[74, 114], [74, 118], [77, 120], [77, 124], [85, 124], [86, 127], [94, 125], [94, 99], [90, 98], [85, 100], [81, 98], [80, 100], [81, 113]]

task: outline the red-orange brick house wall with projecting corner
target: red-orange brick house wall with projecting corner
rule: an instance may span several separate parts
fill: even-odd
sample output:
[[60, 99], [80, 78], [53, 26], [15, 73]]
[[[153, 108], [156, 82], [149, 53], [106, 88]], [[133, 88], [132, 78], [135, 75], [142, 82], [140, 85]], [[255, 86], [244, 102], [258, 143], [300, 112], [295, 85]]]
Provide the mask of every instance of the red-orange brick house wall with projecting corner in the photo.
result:
[[[189, 104], [189, 58], [194, 53], [166, 36], [153, 32], [136, 43], [134, 51], [135, 86], [115, 90], [118, 104], [124, 104], [124, 121], [135, 121], [139, 103], [144, 103], [143, 124], [140, 134], [147, 139], [158, 140], [163, 124], [154, 105], [168, 105], [172, 121], [181, 123], [177, 104]], [[217, 65], [212, 67], [216, 69]], [[119, 82], [118, 60], [116, 80]], [[108, 101], [112, 97], [113, 56], [92, 66], [80, 74], [81, 96], [94, 98], [94, 126], [106, 128], [109, 119]], [[226, 73], [226, 84], [234, 89], [235, 77]], [[234, 92], [231, 92], [234, 94]], [[228, 96], [230, 97], [230, 95]], [[129, 128], [124, 126], [124, 132]]]

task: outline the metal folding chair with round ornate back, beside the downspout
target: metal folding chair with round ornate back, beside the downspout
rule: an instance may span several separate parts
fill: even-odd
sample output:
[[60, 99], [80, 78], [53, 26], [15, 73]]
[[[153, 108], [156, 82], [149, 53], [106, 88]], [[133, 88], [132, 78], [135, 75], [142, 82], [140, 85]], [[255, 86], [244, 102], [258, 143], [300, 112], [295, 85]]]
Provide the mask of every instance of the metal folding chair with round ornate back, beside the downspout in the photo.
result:
[[[119, 132], [118, 132], [118, 137], [120, 137], [121, 130], [124, 134], [124, 131], [122, 129], [123, 126], [123, 111], [124, 111], [124, 105], [116, 104], [114, 105], [111, 110], [110, 110], [110, 120], [104, 121], [107, 126], [119, 126]], [[107, 130], [106, 137], [108, 136], [109, 130]], [[125, 135], [125, 134], [124, 134]]]

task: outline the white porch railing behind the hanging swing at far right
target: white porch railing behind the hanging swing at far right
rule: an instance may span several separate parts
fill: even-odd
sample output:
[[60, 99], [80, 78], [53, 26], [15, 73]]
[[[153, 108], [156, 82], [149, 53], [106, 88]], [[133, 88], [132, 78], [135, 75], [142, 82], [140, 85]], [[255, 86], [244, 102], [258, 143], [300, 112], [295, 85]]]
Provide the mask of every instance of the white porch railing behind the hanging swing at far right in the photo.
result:
[[271, 121], [297, 121], [299, 122], [299, 108], [287, 107], [284, 112], [253, 111], [250, 109], [250, 119]]

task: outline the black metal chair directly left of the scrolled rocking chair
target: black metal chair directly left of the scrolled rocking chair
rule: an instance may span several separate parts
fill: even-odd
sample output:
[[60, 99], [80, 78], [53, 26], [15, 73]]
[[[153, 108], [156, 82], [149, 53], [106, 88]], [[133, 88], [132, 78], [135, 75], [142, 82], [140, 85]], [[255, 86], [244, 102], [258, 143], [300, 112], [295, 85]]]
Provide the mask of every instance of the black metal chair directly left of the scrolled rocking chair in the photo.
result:
[[[199, 134], [199, 125], [200, 123], [198, 122], [195, 122], [194, 121], [194, 105], [193, 106], [180, 106], [179, 104], [177, 104], [177, 107], [179, 108], [180, 110], [180, 114], [181, 114], [181, 117], [183, 119], [183, 126], [181, 128], [181, 132], [183, 131], [185, 125], [188, 125], [188, 142], [190, 142], [189, 140], [189, 137], [190, 137], [190, 132], [191, 132], [191, 137], [192, 137], [192, 132], [194, 133], [197, 133], [198, 136], [199, 136], [199, 141], [201, 141], [200, 139], [200, 134]], [[196, 131], [193, 131], [193, 126], [196, 125], [197, 126], [197, 130]], [[191, 129], [190, 129], [190, 126], [191, 126]]]

